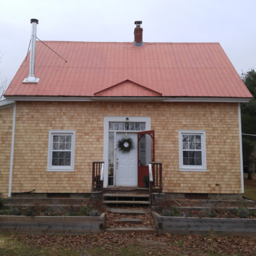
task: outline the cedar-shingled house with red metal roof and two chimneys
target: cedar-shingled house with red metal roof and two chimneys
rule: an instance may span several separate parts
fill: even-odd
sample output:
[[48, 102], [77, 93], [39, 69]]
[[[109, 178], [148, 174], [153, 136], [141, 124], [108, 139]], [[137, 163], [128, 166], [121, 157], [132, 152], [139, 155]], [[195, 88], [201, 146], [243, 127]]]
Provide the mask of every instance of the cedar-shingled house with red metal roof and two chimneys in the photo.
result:
[[105, 188], [143, 187], [158, 162], [167, 196], [241, 197], [252, 96], [220, 44], [146, 43], [141, 22], [133, 43], [36, 42], [31, 23], [30, 61], [0, 105], [4, 196], [84, 195], [103, 161]]

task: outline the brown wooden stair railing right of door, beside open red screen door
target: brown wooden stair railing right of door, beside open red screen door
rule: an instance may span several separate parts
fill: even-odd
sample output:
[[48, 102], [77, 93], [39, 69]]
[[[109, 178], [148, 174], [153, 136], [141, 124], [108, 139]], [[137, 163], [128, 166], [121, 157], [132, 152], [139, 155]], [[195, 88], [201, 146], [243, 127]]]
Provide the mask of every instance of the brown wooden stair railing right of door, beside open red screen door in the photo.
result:
[[150, 171], [150, 187], [149, 192], [150, 195], [152, 191], [162, 193], [162, 163], [160, 162], [150, 162], [151, 168], [149, 167]]

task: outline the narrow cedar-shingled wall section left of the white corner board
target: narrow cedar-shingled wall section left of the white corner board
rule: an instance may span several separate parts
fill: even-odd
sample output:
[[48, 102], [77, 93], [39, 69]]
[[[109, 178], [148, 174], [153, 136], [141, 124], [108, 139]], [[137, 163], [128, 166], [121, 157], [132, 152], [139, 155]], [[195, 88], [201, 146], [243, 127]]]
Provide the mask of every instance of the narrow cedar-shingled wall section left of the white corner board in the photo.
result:
[[0, 193], [8, 196], [13, 106], [0, 109]]

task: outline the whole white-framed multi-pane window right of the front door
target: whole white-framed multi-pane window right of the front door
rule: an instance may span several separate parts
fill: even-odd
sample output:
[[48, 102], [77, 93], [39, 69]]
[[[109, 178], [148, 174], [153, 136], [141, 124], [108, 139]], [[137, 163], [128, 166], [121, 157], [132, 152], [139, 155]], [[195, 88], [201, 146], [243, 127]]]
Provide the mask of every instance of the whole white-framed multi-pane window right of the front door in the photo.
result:
[[180, 171], [206, 171], [205, 131], [179, 131]]

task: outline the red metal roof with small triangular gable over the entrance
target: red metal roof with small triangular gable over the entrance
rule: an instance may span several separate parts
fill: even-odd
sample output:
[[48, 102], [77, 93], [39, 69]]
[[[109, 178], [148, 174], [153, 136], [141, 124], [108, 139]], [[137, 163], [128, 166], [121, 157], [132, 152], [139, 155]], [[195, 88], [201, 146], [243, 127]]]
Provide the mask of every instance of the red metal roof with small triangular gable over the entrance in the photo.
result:
[[218, 43], [36, 42], [5, 96], [252, 97]]

